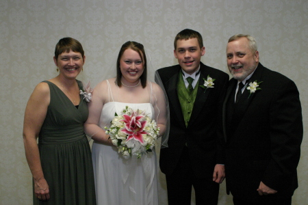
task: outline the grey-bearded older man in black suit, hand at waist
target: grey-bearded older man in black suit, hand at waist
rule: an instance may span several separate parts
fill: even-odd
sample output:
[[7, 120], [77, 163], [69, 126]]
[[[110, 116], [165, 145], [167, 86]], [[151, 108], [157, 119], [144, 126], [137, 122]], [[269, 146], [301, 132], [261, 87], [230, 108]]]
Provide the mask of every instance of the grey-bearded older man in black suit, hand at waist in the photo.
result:
[[255, 39], [248, 35], [229, 39], [227, 65], [233, 76], [221, 133], [227, 192], [237, 205], [290, 205], [303, 139], [297, 87], [259, 63]]

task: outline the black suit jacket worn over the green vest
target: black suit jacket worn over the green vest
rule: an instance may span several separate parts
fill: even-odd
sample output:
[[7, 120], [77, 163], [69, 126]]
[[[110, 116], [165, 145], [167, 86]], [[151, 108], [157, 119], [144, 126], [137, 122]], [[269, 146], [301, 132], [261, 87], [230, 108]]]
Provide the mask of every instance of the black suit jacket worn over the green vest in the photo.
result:
[[[196, 85], [198, 91], [187, 128], [177, 96], [177, 81], [181, 67], [176, 65], [157, 70], [164, 84], [170, 107], [168, 148], [161, 150], [159, 159], [164, 174], [174, 172], [185, 143], [188, 145], [192, 169], [198, 178], [212, 177], [216, 163], [224, 163], [216, 128], [218, 111], [222, 109], [229, 75], [202, 63], [200, 69], [199, 83]], [[199, 85], [204, 84], [203, 78], [207, 79], [208, 75], [216, 81], [214, 87], [205, 91]]]

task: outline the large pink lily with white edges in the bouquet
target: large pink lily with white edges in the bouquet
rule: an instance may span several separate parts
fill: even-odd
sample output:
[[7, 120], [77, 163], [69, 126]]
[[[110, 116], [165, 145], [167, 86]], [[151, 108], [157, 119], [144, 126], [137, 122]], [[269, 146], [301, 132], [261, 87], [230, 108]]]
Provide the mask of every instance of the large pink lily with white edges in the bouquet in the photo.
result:
[[144, 118], [144, 115], [139, 114], [139, 111], [134, 112], [129, 115], [123, 115], [125, 120], [120, 120], [125, 122], [125, 128], [123, 128], [121, 131], [127, 135], [129, 135], [126, 139], [126, 141], [129, 141], [131, 139], [136, 139], [140, 141], [141, 143], [144, 143], [142, 135], [147, 134], [146, 131], [144, 131], [144, 126], [146, 125], [146, 121], [140, 121], [142, 118]]

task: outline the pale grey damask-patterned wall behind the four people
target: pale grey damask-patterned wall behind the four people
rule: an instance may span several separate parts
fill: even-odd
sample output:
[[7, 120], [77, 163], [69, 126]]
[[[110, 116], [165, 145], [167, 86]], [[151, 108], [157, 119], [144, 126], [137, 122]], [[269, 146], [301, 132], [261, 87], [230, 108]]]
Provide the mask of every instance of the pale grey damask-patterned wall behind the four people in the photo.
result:
[[[57, 74], [53, 51], [60, 38], [70, 36], [84, 46], [87, 58], [79, 79], [91, 80], [94, 87], [127, 40], [144, 44], [155, 69], [177, 64], [172, 43], [185, 28], [203, 35], [202, 61], [209, 66], [228, 72], [227, 40], [249, 33], [257, 40], [261, 63], [296, 82], [305, 134], [293, 204], [308, 204], [307, 22], [307, 0], [1, 0], [0, 204], [32, 202], [23, 115], [35, 85]], [[231, 204], [224, 190], [223, 183], [219, 204]], [[167, 204], [165, 191], [161, 204]]]

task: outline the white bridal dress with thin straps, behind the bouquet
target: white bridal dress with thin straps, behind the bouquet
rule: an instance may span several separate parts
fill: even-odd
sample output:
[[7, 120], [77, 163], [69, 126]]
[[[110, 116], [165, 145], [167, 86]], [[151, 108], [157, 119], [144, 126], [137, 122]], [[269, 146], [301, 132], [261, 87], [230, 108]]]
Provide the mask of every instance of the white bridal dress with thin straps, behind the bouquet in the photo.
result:
[[[109, 82], [109, 96], [112, 101], [105, 103], [101, 111], [99, 126], [109, 127], [115, 113], [120, 115], [125, 106], [133, 110], [141, 109], [154, 118], [154, 109], [149, 103], [114, 102]], [[92, 145], [97, 204], [146, 205], [158, 204], [157, 159], [155, 150], [124, 159], [114, 146], [106, 146], [94, 141]]]

